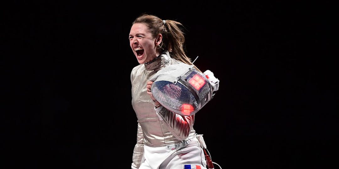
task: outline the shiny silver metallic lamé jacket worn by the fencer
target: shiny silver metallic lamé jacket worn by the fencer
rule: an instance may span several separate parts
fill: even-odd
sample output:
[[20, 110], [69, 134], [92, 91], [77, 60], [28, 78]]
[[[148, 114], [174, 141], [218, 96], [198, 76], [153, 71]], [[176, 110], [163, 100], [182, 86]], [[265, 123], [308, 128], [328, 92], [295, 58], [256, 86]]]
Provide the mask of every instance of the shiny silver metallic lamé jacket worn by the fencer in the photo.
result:
[[141, 64], [132, 69], [132, 106], [138, 119], [137, 144], [132, 159], [134, 168], [140, 165], [143, 145], [160, 147], [195, 136], [194, 115], [181, 116], [168, 111], [163, 106], [155, 108], [146, 92], [148, 79], [160, 69], [173, 64], [184, 63], [171, 58], [168, 52], [164, 52], [151, 63]]

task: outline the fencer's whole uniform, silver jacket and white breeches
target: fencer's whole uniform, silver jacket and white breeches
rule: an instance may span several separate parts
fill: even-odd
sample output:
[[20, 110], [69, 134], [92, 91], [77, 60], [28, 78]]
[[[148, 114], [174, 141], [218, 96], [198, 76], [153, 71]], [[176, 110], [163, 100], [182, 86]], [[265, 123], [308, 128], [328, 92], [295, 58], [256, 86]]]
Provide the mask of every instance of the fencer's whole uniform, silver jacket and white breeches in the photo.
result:
[[132, 106], [138, 119], [132, 169], [206, 168], [204, 152], [193, 128], [195, 115], [181, 116], [163, 106], [155, 108], [146, 92], [146, 82], [157, 71], [173, 64], [184, 63], [164, 52], [151, 63], [132, 69]]

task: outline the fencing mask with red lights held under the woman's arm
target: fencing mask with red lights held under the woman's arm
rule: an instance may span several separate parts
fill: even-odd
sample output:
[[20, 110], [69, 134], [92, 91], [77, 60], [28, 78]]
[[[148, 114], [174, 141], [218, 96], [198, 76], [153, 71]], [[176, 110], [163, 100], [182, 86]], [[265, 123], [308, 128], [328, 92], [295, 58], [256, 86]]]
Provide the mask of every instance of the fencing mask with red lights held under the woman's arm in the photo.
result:
[[[219, 80], [211, 71], [205, 75], [193, 65], [168, 65], [152, 76], [152, 95], [169, 111], [191, 116], [197, 113], [219, 88]], [[208, 78], [214, 78], [212, 82]], [[212, 79], [212, 78], [211, 78]]]

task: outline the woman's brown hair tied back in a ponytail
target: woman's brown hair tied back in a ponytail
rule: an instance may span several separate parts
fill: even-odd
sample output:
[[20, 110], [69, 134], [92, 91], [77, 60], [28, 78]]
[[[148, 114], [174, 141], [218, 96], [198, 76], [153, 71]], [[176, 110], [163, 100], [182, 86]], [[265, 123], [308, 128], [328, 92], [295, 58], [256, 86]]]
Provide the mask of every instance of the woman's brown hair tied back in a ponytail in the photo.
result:
[[[165, 20], [164, 23], [162, 19], [155, 15], [141, 14], [133, 21], [132, 24], [135, 23], [143, 23], [147, 25], [153, 38], [155, 38], [159, 33], [162, 34], [160, 48], [157, 48], [159, 53], [162, 52], [161, 50], [167, 50], [172, 58], [188, 65], [193, 65], [191, 58], [186, 55], [184, 49], [185, 37], [184, 32], [181, 29], [184, 27], [180, 22]], [[195, 65], [193, 66], [195, 69], [200, 71]]]

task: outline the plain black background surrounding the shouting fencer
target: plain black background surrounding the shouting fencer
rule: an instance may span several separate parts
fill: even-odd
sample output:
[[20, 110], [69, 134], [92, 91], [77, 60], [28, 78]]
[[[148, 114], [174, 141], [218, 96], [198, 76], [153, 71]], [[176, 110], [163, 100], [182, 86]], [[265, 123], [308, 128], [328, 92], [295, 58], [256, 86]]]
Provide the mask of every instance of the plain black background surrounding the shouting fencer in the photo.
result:
[[137, 119], [129, 77], [138, 62], [127, 37], [146, 12], [181, 22], [187, 54], [220, 80], [195, 122], [213, 162], [334, 168], [332, 8], [283, 1], [3, 5], [1, 165], [130, 168]]

